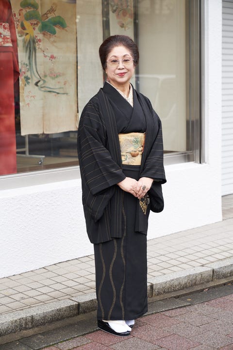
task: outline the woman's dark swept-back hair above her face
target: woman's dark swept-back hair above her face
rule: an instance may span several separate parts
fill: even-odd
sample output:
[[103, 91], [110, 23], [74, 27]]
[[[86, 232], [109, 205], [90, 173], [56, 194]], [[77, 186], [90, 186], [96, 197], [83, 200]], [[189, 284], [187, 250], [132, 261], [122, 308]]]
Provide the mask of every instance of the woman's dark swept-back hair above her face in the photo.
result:
[[106, 59], [108, 54], [115, 48], [116, 46], [124, 46], [127, 48], [132, 56], [133, 56], [133, 64], [136, 66], [139, 61], [139, 52], [137, 45], [134, 41], [127, 35], [111, 35], [100, 45], [99, 54], [100, 61], [103, 70], [106, 68]]

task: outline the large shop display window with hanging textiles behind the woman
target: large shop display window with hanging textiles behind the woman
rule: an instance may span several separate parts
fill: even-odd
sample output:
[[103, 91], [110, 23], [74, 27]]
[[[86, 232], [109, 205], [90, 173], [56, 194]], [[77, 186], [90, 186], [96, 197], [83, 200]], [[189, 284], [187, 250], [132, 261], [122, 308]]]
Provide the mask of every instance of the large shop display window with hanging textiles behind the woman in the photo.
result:
[[199, 1], [3, 0], [0, 7], [0, 175], [78, 165], [79, 113], [103, 84], [98, 50], [115, 34], [138, 44], [132, 83], [162, 120], [165, 157], [197, 160]]

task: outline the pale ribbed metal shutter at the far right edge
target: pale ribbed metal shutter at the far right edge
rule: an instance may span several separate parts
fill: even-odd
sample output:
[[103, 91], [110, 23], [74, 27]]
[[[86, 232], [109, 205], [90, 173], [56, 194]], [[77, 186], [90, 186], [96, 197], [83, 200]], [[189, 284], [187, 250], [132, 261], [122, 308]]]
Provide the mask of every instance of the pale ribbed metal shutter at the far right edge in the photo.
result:
[[222, 195], [233, 193], [233, 0], [222, 1]]

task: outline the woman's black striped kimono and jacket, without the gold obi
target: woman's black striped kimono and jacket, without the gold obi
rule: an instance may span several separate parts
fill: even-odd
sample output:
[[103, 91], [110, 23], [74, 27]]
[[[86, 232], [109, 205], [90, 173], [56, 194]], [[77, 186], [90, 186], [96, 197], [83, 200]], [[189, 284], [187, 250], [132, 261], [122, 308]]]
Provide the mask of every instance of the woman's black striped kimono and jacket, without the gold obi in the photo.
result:
[[[122, 165], [119, 133], [146, 133], [141, 165]], [[163, 210], [161, 122], [150, 101], [133, 88], [133, 107], [110, 84], [88, 102], [78, 129], [83, 210], [94, 243], [98, 319], [135, 319], [147, 312], [147, 228], [150, 210]], [[150, 177], [150, 204], [116, 184]]]

